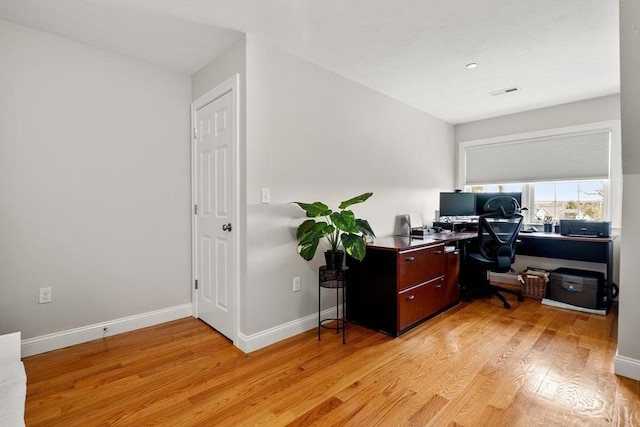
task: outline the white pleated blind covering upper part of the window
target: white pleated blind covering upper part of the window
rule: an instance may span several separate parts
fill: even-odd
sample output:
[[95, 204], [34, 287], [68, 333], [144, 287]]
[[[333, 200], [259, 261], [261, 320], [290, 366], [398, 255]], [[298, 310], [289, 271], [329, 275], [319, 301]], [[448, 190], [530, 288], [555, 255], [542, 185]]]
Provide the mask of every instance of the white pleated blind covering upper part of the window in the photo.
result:
[[471, 145], [466, 185], [608, 179], [611, 130]]

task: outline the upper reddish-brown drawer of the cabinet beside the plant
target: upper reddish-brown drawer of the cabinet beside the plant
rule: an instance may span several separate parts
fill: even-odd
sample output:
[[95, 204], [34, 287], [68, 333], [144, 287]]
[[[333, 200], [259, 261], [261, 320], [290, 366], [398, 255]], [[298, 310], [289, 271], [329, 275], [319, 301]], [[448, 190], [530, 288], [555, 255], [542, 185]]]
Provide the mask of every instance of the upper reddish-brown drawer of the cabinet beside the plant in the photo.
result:
[[398, 253], [398, 290], [444, 275], [444, 244]]

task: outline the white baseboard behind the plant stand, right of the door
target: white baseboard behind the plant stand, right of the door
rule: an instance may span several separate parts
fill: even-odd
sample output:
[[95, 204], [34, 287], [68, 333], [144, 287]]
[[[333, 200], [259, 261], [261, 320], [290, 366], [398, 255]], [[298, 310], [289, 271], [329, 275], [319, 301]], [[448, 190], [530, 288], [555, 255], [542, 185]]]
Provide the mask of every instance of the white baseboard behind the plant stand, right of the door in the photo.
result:
[[[339, 306], [340, 314], [344, 313], [342, 306]], [[336, 307], [323, 310], [321, 313], [322, 319], [329, 319], [336, 317]], [[282, 325], [267, 329], [257, 334], [244, 335], [238, 334], [238, 341], [236, 347], [245, 353], [251, 353], [252, 351], [259, 350], [263, 347], [267, 347], [271, 344], [275, 344], [278, 341], [290, 338], [294, 335], [301, 334], [310, 329], [318, 327], [318, 314], [312, 314], [301, 319], [284, 323]]]

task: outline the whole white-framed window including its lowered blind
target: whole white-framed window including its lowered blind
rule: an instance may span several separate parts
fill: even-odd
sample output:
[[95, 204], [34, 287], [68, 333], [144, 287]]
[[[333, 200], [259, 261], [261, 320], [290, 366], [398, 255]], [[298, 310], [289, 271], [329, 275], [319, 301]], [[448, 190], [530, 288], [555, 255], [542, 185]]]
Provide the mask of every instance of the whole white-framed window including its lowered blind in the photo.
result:
[[462, 141], [455, 185], [476, 192], [521, 190], [527, 223], [584, 218], [619, 227], [620, 134], [620, 121], [612, 120]]

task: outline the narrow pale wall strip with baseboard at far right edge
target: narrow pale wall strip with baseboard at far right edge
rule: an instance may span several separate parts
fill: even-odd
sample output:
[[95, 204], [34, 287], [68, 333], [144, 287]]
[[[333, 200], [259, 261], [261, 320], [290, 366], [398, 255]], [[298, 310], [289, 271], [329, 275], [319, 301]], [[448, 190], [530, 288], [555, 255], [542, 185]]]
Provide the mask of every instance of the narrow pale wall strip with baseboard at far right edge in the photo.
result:
[[620, 1], [622, 235], [615, 372], [640, 380], [640, 3]]

